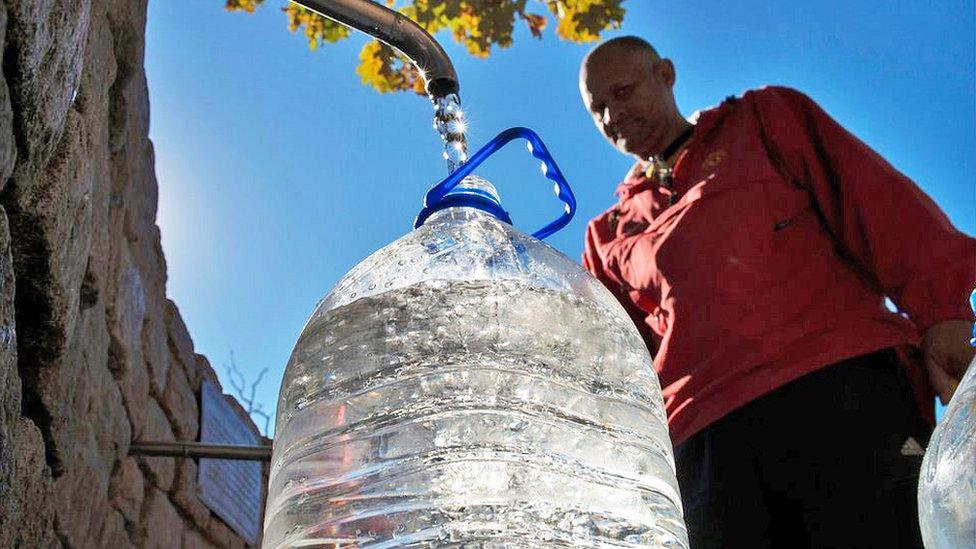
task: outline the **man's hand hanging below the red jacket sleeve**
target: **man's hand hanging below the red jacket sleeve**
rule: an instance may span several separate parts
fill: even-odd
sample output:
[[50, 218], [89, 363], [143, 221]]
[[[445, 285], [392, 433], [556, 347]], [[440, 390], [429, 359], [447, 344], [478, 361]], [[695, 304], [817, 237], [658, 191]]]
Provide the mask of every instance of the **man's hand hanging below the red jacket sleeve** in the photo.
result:
[[972, 322], [947, 320], [933, 325], [922, 335], [925, 369], [942, 404], [952, 398], [959, 380], [976, 355], [976, 347], [969, 344], [972, 333]]

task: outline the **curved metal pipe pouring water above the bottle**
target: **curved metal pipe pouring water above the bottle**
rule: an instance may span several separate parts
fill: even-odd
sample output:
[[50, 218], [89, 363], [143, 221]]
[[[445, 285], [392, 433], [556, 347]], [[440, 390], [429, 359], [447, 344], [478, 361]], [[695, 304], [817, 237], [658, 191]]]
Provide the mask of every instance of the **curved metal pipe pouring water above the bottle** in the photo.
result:
[[402, 14], [370, 0], [291, 1], [400, 50], [420, 69], [432, 99], [458, 93], [457, 73], [447, 53], [427, 31]]

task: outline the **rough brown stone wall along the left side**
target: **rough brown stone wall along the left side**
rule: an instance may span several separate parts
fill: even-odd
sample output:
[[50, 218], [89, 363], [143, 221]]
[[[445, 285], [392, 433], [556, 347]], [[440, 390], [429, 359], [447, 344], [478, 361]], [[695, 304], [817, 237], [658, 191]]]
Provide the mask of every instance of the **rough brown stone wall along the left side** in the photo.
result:
[[147, 0], [0, 0], [0, 547], [234, 547], [193, 460], [201, 380], [166, 299]]

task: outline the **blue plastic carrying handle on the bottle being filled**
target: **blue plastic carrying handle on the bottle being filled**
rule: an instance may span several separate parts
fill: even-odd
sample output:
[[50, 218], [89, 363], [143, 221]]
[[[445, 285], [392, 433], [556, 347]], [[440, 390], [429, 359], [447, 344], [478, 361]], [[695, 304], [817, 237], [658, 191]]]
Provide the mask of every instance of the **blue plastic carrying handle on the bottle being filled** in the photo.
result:
[[[542, 173], [553, 181], [553, 192], [559, 197], [563, 202], [563, 213], [558, 219], [549, 223], [545, 227], [539, 229], [538, 231], [532, 233], [532, 236], [542, 240], [543, 238], [553, 234], [565, 227], [573, 215], [576, 213], [576, 196], [573, 195], [573, 189], [569, 187], [569, 183], [566, 182], [566, 178], [563, 173], [559, 171], [559, 166], [556, 165], [556, 161], [552, 159], [552, 155], [549, 154], [549, 149], [542, 142], [542, 139], [532, 130], [528, 128], [509, 128], [502, 133], [495, 136], [494, 139], [489, 141], [484, 147], [478, 150], [478, 152], [471, 155], [471, 158], [461, 165], [454, 173], [447, 176], [446, 179], [434, 185], [427, 194], [424, 196], [424, 210], [428, 211], [432, 206], [435, 206], [438, 202], [444, 199], [447, 195], [461, 182], [462, 179], [467, 177], [481, 165], [489, 156], [494, 154], [498, 149], [501, 149], [509, 141], [513, 139], [525, 139], [527, 141], [527, 146], [529, 152], [532, 156], [542, 160]], [[419, 220], [419, 218], [418, 218]], [[422, 220], [419, 220], [422, 222]], [[420, 222], [416, 226], [420, 225]], [[416, 228], [415, 226], [415, 228]]]

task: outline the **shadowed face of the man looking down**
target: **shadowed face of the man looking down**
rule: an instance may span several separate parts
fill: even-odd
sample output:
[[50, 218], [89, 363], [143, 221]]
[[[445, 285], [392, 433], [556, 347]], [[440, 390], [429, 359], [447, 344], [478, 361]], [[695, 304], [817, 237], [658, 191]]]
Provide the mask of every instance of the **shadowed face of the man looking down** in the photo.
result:
[[618, 151], [659, 154], [680, 118], [670, 61], [623, 48], [596, 52], [580, 71], [580, 94], [593, 122]]

